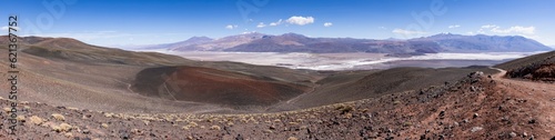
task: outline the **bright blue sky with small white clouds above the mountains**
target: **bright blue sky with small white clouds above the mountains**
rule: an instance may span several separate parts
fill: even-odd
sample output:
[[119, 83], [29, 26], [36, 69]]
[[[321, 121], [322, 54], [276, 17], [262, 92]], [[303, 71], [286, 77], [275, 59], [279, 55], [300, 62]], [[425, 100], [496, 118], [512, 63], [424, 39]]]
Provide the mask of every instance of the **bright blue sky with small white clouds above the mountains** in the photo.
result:
[[[194, 36], [295, 32], [331, 38], [416, 38], [442, 32], [524, 36], [555, 46], [553, 0], [0, 0], [20, 36], [98, 46]], [[6, 31], [7, 24], [0, 24]]]

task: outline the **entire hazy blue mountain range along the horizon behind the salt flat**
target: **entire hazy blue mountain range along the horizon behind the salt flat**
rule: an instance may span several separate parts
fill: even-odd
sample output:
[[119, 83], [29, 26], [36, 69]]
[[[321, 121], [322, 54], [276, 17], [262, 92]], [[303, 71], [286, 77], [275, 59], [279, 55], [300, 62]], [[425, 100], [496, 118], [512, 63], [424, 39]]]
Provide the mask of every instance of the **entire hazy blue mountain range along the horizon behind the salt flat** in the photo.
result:
[[509, 52], [547, 51], [552, 48], [519, 36], [462, 36], [441, 33], [408, 40], [309, 38], [296, 33], [271, 36], [245, 33], [220, 39], [193, 37], [185, 41], [149, 46], [143, 49], [172, 51], [241, 51], [241, 52], [375, 52], [422, 54], [436, 52]]

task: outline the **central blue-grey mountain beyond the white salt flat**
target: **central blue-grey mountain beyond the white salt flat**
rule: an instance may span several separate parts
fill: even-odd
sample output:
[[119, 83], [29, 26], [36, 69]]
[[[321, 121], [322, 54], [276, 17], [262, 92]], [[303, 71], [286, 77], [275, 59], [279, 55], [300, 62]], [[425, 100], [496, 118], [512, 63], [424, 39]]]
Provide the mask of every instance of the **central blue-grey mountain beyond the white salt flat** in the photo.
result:
[[265, 36], [224, 51], [246, 52], [382, 52], [382, 53], [434, 53], [440, 50], [435, 43], [423, 41], [383, 41], [352, 38], [309, 38], [285, 33]]

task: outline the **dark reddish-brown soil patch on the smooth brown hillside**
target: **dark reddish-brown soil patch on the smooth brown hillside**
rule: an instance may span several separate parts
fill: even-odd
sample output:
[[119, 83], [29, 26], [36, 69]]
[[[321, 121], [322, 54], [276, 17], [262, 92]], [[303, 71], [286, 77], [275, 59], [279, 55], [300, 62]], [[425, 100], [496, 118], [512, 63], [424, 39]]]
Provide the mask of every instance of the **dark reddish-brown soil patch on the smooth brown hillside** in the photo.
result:
[[309, 88], [239, 72], [201, 67], [162, 67], [137, 74], [132, 90], [149, 97], [230, 106], [269, 106]]

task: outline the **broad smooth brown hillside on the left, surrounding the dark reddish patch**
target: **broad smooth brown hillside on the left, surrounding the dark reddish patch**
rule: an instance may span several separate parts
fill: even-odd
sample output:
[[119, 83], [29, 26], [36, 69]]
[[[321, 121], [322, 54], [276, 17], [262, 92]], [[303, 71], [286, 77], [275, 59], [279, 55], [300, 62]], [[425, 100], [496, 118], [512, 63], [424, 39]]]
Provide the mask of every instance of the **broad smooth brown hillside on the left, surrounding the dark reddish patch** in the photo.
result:
[[[6, 37], [2, 37], [6, 38]], [[205, 81], [192, 81], [198, 84], [216, 82], [220, 78], [231, 81], [220, 81], [219, 90], [195, 89], [213, 96], [235, 98], [229, 89], [236, 89], [238, 94], [246, 93], [238, 99], [254, 102], [239, 104], [273, 102], [285, 100], [303, 92], [303, 87], [310, 87], [319, 79], [317, 72], [309, 70], [291, 70], [278, 67], [252, 66], [238, 62], [201, 62], [154, 52], [132, 52], [120, 49], [102, 48], [64, 38], [20, 38], [18, 53], [21, 100], [47, 102], [57, 106], [72, 106], [114, 112], [194, 112], [230, 110], [214, 104], [233, 104], [216, 102], [216, 100], [168, 100], [162, 96], [153, 98], [135, 93], [132, 86], [141, 71], [153, 68], [189, 67], [198, 68], [193, 72], [202, 73]], [[4, 44], [1, 44], [4, 46]], [[7, 48], [0, 52], [8, 53]], [[7, 59], [8, 56], [1, 57]], [[8, 69], [7, 61], [0, 67]], [[188, 69], [189, 70], [189, 69]], [[184, 70], [184, 71], [188, 71]], [[190, 72], [190, 71], [188, 71]], [[179, 72], [182, 73], [182, 72]], [[7, 74], [3, 72], [2, 74]], [[142, 76], [142, 74], [140, 74]], [[172, 76], [172, 74], [169, 74]], [[199, 78], [198, 74], [184, 74], [185, 78]], [[215, 77], [228, 76], [228, 77]], [[160, 74], [152, 76], [160, 78]], [[212, 80], [212, 81], [210, 81]], [[140, 81], [140, 80], [139, 80]], [[143, 81], [145, 84], [149, 81]], [[256, 94], [256, 88], [246, 87], [251, 83], [265, 88], [268, 94]], [[2, 84], [0, 91], [9, 92], [9, 84]], [[142, 90], [139, 90], [142, 91]], [[232, 91], [232, 90], [230, 90]], [[141, 92], [144, 93], [144, 92]], [[152, 92], [158, 93], [158, 92]], [[152, 94], [145, 93], [145, 94]], [[168, 96], [168, 94], [167, 94]], [[185, 98], [178, 96], [178, 98]], [[189, 94], [190, 96], [190, 94]], [[235, 94], [236, 96], [236, 94]], [[263, 97], [268, 96], [268, 97]], [[204, 96], [206, 99], [209, 94]], [[253, 99], [250, 99], [253, 98]], [[200, 98], [201, 99], [201, 98]], [[263, 100], [262, 100], [263, 99]], [[270, 100], [272, 99], [272, 100]]]

